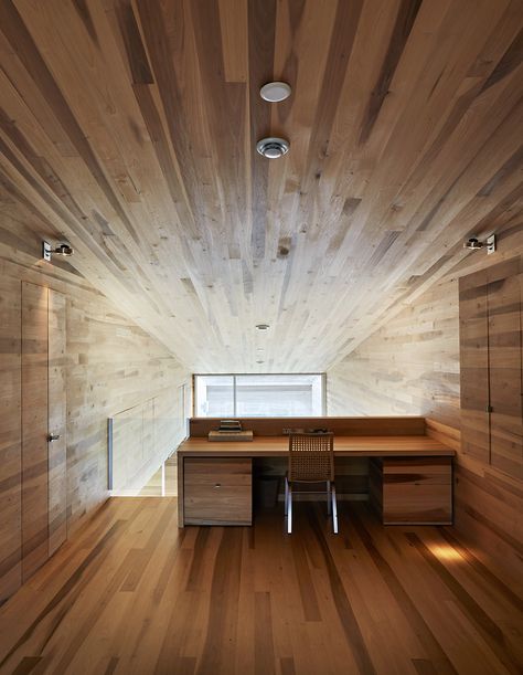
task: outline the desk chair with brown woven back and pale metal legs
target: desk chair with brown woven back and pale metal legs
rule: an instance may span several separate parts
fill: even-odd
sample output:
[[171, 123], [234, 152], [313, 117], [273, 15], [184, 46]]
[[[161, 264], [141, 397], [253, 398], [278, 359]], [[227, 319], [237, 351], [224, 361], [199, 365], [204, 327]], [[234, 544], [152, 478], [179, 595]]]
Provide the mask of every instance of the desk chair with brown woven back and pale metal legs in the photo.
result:
[[287, 532], [292, 531], [293, 483], [327, 483], [327, 511], [332, 511], [332, 529], [338, 535], [334, 486], [334, 434], [292, 433], [289, 435], [289, 468], [285, 477]]

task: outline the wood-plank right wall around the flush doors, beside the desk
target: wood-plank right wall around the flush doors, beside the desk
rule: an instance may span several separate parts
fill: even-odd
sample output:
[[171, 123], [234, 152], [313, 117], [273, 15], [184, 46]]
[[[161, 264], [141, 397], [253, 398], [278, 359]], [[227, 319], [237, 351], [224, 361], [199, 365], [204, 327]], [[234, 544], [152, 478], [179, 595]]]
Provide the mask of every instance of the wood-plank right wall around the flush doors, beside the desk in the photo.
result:
[[499, 250], [466, 254], [441, 282], [405, 307], [328, 371], [328, 412], [421, 414], [458, 451], [455, 526], [511, 577], [523, 573], [523, 484], [465, 456], [460, 433], [458, 278], [523, 253], [523, 225], [510, 224]]

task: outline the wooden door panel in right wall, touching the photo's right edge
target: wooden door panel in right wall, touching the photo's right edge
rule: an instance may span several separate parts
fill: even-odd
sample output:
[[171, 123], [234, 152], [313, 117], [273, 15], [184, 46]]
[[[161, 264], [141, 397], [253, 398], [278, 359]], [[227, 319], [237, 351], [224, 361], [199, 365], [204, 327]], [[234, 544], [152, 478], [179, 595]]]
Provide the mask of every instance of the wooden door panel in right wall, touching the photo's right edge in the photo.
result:
[[489, 283], [491, 464], [523, 478], [522, 274]]

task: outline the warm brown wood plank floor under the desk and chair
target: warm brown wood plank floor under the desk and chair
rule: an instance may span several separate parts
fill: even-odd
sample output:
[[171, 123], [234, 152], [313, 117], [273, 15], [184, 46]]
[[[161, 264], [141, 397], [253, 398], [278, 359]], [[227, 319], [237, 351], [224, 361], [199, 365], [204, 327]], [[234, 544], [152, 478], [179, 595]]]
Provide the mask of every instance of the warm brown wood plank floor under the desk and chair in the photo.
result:
[[450, 528], [341, 504], [177, 528], [114, 498], [0, 610], [1, 673], [521, 673], [522, 600]]

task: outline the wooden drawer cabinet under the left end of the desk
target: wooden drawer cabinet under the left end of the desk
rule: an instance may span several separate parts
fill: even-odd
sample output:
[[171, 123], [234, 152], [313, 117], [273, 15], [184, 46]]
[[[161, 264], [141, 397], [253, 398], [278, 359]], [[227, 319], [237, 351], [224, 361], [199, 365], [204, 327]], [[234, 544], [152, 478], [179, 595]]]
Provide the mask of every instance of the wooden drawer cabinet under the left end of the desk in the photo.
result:
[[252, 525], [253, 471], [247, 457], [185, 457], [185, 525]]

